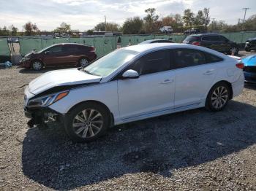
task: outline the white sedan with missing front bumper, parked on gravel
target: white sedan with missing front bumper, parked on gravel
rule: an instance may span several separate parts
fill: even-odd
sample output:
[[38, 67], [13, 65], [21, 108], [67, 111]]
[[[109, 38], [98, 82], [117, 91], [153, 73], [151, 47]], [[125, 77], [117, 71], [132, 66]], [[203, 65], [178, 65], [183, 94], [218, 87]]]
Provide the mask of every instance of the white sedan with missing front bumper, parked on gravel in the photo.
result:
[[72, 140], [92, 141], [113, 126], [206, 107], [222, 110], [244, 88], [243, 63], [189, 44], [141, 44], [89, 66], [50, 71], [25, 90], [30, 125], [60, 118]]

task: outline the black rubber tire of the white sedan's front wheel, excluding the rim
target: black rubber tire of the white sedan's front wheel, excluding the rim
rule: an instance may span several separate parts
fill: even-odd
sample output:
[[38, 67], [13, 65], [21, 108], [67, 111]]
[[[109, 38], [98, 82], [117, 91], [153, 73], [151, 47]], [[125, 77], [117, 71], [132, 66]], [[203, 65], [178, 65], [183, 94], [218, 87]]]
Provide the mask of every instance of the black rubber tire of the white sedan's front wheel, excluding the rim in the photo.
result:
[[[102, 114], [103, 118], [103, 125], [99, 133], [97, 133], [96, 136], [90, 137], [90, 138], [81, 138], [78, 136], [74, 128], [72, 127], [73, 120], [75, 116], [78, 114], [78, 112], [82, 111], [83, 109], [96, 109], [100, 114]], [[103, 106], [95, 103], [81, 103], [75, 106], [73, 109], [71, 109], [65, 116], [65, 130], [67, 135], [72, 139], [72, 141], [83, 143], [83, 142], [89, 142], [94, 141], [95, 139], [99, 138], [100, 136], [103, 136], [108, 129], [110, 125], [110, 117], [109, 112], [107, 109], [105, 109]]]

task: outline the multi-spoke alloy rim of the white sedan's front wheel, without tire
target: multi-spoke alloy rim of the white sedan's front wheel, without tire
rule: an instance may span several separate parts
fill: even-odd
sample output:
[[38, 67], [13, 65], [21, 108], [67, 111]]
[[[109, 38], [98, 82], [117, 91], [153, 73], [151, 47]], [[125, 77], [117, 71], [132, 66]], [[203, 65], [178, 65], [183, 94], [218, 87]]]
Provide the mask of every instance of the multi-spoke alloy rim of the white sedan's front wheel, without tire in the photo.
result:
[[78, 136], [89, 138], [97, 135], [101, 130], [103, 117], [95, 109], [84, 109], [75, 116], [72, 125]]

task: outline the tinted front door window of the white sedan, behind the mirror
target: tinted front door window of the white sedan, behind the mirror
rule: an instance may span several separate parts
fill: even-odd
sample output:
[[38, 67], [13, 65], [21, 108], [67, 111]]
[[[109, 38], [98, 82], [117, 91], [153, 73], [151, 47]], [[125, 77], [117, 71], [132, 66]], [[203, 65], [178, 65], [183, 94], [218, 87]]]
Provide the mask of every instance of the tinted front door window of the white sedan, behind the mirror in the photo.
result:
[[138, 71], [140, 75], [170, 70], [170, 52], [169, 50], [151, 52], [135, 61], [130, 69]]

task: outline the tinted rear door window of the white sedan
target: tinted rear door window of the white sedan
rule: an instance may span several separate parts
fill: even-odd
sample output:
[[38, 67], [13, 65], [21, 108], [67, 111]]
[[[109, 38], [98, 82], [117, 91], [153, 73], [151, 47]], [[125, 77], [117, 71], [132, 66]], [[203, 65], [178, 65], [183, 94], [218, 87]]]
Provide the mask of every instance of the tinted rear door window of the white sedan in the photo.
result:
[[207, 63], [203, 52], [192, 49], [173, 50], [173, 61], [176, 69]]

